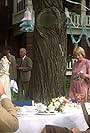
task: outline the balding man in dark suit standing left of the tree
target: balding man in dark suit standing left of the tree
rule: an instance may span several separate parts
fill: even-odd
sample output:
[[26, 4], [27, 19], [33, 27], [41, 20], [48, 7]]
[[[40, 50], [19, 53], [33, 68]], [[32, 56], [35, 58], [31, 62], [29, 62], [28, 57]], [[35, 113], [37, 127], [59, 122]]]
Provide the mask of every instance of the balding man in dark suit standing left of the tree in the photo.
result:
[[27, 99], [31, 78], [32, 60], [27, 57], [25, 48], [20, 48], [19, 54], [20, 58], [17, 59], [17, 78], [19, 87], [18, 98], [21, 99], [24, 93], [24, 99]]

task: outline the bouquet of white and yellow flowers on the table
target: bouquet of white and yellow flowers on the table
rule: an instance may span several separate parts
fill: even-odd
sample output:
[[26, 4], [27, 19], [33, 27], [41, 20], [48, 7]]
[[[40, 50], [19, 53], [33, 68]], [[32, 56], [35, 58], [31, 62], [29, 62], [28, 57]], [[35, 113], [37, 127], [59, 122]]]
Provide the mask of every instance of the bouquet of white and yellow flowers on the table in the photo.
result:
[[48, 110], [50, 112], [54, 111], [63, 112], [66, 103], [69, 103], [69, 100], [66, 99], [64, 96], [53, 98], [50, 104], [48, 105]]

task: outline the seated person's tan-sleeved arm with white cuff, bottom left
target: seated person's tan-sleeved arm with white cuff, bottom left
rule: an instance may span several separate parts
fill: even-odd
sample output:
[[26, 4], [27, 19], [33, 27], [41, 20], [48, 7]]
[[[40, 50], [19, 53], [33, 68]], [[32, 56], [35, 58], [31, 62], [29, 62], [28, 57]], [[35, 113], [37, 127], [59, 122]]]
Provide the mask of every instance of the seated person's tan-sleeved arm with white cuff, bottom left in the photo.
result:
[[0, 133], [12, 133], [19, 128], [17, 113], [0, 82]]

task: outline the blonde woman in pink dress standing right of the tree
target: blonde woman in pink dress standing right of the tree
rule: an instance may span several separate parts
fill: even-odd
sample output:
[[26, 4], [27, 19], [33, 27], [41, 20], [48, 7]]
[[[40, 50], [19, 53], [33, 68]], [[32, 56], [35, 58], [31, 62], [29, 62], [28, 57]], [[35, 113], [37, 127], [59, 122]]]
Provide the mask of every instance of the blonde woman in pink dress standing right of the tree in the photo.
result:
[[76, 47], [73, 51], [76, 62], [72, 68], [72, 77], [69, 97], [77, 99], [77, 95], [83, 94], [85, 101], [88, 100], [90, 82], [90, 61], [85, 58], [85, 51], [82, 47]]

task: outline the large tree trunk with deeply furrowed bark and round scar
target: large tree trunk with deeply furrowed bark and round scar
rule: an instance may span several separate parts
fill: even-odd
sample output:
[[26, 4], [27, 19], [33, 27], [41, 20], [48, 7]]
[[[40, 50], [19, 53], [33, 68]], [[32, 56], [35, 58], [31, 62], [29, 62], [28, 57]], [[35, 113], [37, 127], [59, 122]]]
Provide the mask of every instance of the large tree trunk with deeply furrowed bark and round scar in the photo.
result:
[[36, 23], [30, 97], [46, 103], [64, 95], [66, 18], [62, 0], [33, 0], [33, 7]]

